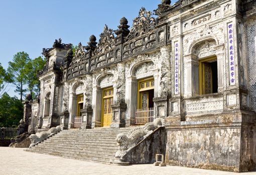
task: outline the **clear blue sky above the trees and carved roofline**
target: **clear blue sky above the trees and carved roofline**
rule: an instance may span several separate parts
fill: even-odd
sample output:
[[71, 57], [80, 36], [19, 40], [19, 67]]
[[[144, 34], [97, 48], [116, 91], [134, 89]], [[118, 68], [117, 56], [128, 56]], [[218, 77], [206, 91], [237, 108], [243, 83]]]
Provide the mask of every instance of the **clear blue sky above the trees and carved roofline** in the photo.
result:
[[[125, 16], [132, 25], [142, 6], [153, 11], [159, 3], [161, 0], [0, 0], [0, 62], [7, 68], [19, 51], [38, 57], [57, 38], [86, 45], [91, 34], [99, 39], [104, 24], [117, 29]], [[7, 89], [11, 96], [16, 94], [14, 88]]]

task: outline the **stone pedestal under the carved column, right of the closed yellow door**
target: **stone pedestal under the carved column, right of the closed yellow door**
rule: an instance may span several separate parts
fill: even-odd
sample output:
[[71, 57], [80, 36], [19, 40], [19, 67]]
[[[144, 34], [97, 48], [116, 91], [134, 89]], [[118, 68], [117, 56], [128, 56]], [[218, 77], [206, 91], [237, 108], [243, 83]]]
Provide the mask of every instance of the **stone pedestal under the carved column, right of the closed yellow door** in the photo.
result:
[[125, 103], [111, 104], [111, 108], [113, 111], [113, 117], [112, 117], [112, 123], [110, 124], [110, 127], [113, 127], [113, 128], [124, 127], [126, 104]]

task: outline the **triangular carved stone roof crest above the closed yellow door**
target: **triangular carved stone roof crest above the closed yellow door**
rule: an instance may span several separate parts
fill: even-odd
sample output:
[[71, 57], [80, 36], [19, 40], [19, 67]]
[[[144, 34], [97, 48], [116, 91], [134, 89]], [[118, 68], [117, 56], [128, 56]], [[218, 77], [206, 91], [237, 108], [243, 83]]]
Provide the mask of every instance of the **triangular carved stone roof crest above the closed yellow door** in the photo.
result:
[[109, 51], [114, 47], [114, 32], [112, 29], [108, 28], [106, 24], [104, 26], [103, 32], [100, 33], [99, 37], [98, 46], [94, 51], [95, 55]]

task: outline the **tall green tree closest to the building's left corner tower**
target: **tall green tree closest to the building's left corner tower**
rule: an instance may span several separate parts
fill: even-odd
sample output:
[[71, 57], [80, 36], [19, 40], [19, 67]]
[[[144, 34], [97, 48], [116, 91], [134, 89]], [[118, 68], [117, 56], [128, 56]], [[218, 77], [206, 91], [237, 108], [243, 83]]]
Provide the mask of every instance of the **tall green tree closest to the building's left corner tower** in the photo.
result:
[[25, 65], [25, 82], [28, 85], [32, 99], [40, 92], [40, 81], [37, 77], [37, 73], [44, 68], [45, 62], [45, 59], [39, 56], [29, 60]]

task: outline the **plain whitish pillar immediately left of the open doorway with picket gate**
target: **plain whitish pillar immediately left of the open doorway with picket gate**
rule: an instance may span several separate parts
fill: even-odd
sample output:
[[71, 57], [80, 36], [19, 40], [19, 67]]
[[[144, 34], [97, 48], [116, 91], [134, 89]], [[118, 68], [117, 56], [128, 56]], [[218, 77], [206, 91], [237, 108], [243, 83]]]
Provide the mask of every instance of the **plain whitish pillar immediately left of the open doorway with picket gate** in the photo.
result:
[[135, 76], [126, 77], [125, 80], [125, 103], [127, 104], [126, 126], [130, 126], [131, 118], [134, 121], [135, 112], [137, 108], [137, 84], [138, 81]]

